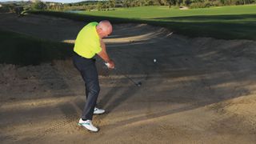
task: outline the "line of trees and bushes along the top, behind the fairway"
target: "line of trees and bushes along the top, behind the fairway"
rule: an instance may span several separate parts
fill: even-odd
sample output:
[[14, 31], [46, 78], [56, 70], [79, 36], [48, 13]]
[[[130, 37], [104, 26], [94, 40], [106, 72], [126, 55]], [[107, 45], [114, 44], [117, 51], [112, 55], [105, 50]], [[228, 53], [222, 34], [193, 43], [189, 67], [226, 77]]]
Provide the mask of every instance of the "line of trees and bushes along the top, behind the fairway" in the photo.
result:
[[256, 3], [256, 0], [103, 0], [103, 1], [84, 1], [76, 3], [59, 3], [59, 2], [19, 2], [2, 4], [2, 11], [17, 11], [17, 6], [24, 9], [18, 10], [114, 10], [116, 7], [137, 7], [137, 6], [187, 6], [189, 8], [206, 8], [210, 6], [233, 6]]

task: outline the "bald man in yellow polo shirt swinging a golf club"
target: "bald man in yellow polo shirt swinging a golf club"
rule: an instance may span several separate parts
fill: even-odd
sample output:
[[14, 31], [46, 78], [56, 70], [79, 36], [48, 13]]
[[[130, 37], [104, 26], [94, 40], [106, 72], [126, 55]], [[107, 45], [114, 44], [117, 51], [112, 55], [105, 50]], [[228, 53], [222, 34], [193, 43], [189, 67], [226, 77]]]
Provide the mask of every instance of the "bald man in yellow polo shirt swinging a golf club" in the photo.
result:
[[80, 30], [74, 43], [74, 66], [82, 75], [86, 86], [86, 104], [78, 125], [94, 132], [97, 132], [98, 128], [92, 123], [93, 114], [105, 112], [95, 107], [100, 86], [94, 57], [98, 54], [103, 61], [108, 63], [109, 69], [114, 69], [114, 62], [106, 53], [106, 45], [102, 41], [102, 38], [106, 38], [111, 33], [112, 26], [109, 21], [90, 22]]

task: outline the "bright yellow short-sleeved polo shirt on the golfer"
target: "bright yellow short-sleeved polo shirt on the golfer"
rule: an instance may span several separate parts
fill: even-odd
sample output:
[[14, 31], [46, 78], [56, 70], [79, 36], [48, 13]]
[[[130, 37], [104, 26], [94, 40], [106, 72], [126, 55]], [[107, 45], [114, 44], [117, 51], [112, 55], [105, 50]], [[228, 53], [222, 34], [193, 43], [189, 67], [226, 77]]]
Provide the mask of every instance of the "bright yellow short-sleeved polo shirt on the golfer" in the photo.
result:
[[74, 42], [74, 52], [84, 58], [93, 58], [102, 51], [100, 38], [96, 31], [98, 22], [90, 22], [80, 30]]

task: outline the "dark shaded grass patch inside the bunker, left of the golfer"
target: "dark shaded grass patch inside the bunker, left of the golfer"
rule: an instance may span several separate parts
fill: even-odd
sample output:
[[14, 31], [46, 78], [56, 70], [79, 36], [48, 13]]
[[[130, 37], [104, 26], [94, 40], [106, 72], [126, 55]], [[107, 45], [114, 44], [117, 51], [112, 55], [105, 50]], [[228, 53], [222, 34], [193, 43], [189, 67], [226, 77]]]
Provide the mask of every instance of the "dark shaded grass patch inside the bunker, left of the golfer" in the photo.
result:
[[4, 30], [0, 30], [0, 43], [0, 63], [20, 66], [70, 58], [73, 48], [70, 44], [47, 42]]

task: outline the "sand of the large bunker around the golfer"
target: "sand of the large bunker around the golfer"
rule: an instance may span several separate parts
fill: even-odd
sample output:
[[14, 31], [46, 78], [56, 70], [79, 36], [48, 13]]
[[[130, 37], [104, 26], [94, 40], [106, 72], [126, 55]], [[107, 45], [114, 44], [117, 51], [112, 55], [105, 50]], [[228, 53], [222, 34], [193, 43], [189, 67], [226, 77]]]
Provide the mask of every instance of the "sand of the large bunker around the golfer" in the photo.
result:
[[[74, 42], [84, 25], [0, 14], [0, 29], [56, 42]], [[256, 142], [256, 42], [188, 38], [146, 24], [114, 25], [104, 41], [121, 73], [98, 58], [98, 107], [106, 110], [94, 116], [98, 133], [77, 125], [85, 88], [70, 59], [1, 64], [1, 143]]]

